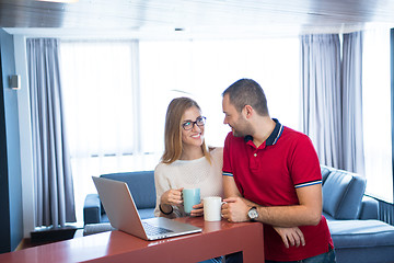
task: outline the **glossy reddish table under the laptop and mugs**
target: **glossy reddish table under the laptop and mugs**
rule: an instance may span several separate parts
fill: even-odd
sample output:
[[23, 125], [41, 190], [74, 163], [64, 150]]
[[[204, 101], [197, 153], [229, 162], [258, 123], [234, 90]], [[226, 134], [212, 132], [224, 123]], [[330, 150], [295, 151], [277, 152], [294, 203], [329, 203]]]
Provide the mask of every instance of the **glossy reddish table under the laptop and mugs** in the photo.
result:
[[0, 254], [0, 262], [199, 262], [237, 251], [243, 251], [245, 263], [264, 262], [259, 222], [208, 222], [202, 217], [175, 220], [204, 230], [157, 241], [121, 231], [103, 232]]

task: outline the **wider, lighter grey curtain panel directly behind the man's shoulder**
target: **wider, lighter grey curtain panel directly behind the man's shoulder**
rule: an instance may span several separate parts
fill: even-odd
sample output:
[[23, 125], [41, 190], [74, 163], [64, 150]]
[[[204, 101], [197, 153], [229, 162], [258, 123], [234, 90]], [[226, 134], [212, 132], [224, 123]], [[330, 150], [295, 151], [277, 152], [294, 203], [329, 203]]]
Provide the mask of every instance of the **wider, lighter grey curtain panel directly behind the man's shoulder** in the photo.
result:
[[322, 164], [343, 168], [338, 35], [301, 36], [301, 125]]

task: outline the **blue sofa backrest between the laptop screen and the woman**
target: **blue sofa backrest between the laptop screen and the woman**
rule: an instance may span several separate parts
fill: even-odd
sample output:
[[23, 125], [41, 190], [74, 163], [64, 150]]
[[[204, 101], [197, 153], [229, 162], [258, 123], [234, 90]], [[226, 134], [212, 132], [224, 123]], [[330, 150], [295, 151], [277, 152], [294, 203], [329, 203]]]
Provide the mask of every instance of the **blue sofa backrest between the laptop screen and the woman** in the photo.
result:
[[101, 176], [126, 182], [138, 209], [155, 207], [153, 171], [109, 173]]

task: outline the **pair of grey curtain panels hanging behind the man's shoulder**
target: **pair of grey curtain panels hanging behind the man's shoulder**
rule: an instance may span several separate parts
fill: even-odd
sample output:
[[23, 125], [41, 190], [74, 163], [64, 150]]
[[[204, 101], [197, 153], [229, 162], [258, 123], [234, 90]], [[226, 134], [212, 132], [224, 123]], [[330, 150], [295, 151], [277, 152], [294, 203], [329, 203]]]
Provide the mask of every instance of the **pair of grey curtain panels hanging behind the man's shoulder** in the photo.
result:
[[320, 162], [364, 174], [362, 33], [301, 36], [301, 124]]

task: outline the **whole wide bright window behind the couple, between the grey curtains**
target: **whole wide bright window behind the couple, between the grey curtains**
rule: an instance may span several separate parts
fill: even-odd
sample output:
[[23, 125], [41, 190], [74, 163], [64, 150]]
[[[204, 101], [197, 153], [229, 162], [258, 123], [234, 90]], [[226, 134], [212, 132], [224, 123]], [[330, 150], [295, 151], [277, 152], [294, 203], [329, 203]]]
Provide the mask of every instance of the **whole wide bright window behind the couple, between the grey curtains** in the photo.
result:
[[270, 115], [299, 125], [299, 39], [62, 42], [65, 112], [78, 221], [92, 175], [152, 170], [164, 145], [170, 101], [192, 96], [206, 140], [223, 146], [221, 93], [240, 78], [266, 92]]

